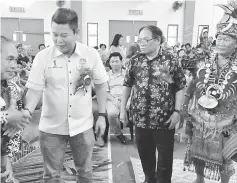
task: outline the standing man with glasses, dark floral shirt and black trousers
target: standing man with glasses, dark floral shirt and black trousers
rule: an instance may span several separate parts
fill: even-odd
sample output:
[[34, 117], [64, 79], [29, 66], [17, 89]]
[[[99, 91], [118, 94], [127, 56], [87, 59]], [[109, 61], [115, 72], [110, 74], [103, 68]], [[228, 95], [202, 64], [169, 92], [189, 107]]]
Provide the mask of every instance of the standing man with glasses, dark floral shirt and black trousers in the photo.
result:
[[180, 119], [186, 85], [177, 58], [162, 50], [162, 42], [163, 33], [158, 27], [140, 29], [141, 53], [129, 61], [121, 101], [120, 119], [127, 123], [126, 103], [133, 87], [130, 120], [136, 126], [145, 183], [171, 183], [175, 126]]

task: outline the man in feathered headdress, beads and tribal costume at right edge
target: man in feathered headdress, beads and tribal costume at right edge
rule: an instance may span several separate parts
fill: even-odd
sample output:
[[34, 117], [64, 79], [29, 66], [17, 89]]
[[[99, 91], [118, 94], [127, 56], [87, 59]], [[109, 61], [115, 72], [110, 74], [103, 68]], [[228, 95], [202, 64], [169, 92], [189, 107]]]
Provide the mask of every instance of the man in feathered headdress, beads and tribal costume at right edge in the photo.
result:
[[237, 154], [237, 6], [218, 5], [225, 14], [217, 25], [216, 50], [197, 67], [184, 101], [188, 147], [185, 169], [228, 183]]

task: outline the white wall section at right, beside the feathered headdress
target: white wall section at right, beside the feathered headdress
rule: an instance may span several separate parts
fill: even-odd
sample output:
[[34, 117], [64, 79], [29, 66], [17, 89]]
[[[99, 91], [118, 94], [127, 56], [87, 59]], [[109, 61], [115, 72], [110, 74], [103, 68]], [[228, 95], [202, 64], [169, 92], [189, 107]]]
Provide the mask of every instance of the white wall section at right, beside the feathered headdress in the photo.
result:
[[209, 36], [215, 37], [216, 24], [220, 21], [224, 11], [215, 6], [216, 4], [227, 4], [227, 0], [196, 0], [194, 27], [193, 27], [193, 46], [197, 45], [198, 26], [209, 25]]

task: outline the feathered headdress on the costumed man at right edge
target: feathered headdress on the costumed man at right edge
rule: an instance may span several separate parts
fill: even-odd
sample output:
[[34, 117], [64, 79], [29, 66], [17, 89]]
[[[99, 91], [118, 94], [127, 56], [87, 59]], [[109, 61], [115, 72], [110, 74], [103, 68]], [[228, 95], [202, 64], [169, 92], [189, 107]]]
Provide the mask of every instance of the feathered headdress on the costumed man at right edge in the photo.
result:
[[237, 38], [237, 1], [229, 1], [227, 5], [216, 5], [222, 8], [225, 13], [217, 24], [217, 35], [226, 34]]

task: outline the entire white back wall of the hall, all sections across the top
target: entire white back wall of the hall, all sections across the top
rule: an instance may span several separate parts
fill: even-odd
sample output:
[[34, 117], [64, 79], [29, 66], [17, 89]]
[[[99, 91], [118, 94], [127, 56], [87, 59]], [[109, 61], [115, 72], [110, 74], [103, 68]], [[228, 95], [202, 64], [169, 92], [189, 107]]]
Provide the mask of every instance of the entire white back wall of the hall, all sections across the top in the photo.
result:
[[[27, 7], [24, 13], [9, 11], [8, 3], [15, 1], [18, 6]], [[64, 7], [70, 8], [71, 0], [67, 0]], [[83, 1], [82, 2], [82, 42], [87, 43], [87, 23], [98, 23], [99, 43], [109, 45], [109, 20], [147, 20], [157, 21], [167, 35], [168, 24], [179, 24], [179, 41], [183, 40], [184, 8], [174, 12], [172, 3], [174, 0], [142, 0], [139, 1]], [[28, 3], [27, 3], [28, 2]], [[196, 0], [193, 45], [197, 43], [198, 25], [209, 25], [210, 36], [215, 35], [217, 22], [223, 15], [223, 10], [214, 4], [226, 4], [227, 0]], [[23, 17], [44, 19], [44, 31], [50, 32], [50, 21], [53, 12], [57, 9], [55, 0], [0, 0], [1, 17]], [[143, 15], [128, 15], [129, 10], [143, 10]], [[46, 44], [51, 43], [51, 36], [45, 37]]]

